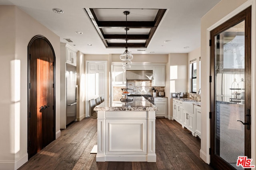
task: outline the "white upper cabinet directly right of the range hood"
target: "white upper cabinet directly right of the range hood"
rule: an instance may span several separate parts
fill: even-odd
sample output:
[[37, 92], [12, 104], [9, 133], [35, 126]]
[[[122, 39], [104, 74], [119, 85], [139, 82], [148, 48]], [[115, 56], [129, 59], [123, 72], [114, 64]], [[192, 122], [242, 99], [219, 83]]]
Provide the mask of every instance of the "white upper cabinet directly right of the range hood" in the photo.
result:
[[165, 66], [153, 66], [152, 86], [165, 86]]

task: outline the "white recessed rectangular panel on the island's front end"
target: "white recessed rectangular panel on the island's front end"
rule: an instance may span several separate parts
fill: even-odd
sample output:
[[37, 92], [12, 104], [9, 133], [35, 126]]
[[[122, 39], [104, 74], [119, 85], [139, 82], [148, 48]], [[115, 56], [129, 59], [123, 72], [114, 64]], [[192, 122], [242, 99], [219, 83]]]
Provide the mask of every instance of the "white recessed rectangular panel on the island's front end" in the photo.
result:
[[147, 119], [106, 119], [106, 155], [121, 154], [147, 154]]

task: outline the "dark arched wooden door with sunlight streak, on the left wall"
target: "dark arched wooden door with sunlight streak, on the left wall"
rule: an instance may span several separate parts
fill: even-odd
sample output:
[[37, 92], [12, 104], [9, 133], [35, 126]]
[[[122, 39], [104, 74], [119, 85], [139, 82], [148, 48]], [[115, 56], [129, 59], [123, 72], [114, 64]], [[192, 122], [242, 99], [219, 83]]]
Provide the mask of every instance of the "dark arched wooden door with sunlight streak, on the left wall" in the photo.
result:
[[55, 55], [50, 42], [36, 36], [28, 45], [28, 156], [55, 140]]

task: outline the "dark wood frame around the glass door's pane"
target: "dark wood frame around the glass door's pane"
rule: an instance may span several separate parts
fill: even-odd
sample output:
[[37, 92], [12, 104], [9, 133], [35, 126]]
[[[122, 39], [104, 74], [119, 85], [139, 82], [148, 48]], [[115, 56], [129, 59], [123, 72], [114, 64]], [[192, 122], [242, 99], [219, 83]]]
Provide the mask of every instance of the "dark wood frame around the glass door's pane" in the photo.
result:
[[[248, 41], [248, 38], [245, 39], [245, 68], [248, 68], [245, 70], [245, 81], [248, 83], [251, 83], [251, 23], [252, 23], [252, 7], [246, 8], [244, 11], [240, 12], [233, 18], [229, 19], [228, 21], [222, 23], [215, 29], [213, 29], [210, 32], [210, 39], [212, 41], [212, 45], [210, 47], [210, 76], [212, 76], [212, 82], [210, 84], [210, 113], [211, 113], [211, 119], [210, 119], [210, 164], [214, 166], [214, 168], [217, 169], [234, 169], [233, 166], [230, 164], [227, 164], [225, 160], [223, 160], [220, 156], [215, 154], [215, 45], [214, 45], [214, 37], [221, 33], [222, 31], [225, 31], [226, 29], [240, 23], [241, 21], [245, 20], [245, 36], [250, 37], [250, 41]], [[246, 41], [247, 40], [247, 41]], [[248, 96], [251, 96], [251, 84], [246, 84], [246, 91], [245, 91], [245, 111], [246, 109], [251, 110], [251, 98], [248, 98]], [[245, 118], [246, 119], [246, 118]], [[251, 127], [251, 126], [250, 126]], [[241, 156], [248, 156], [248, 158], [251, 158], [251, 130], [245, 129], [245, 139], [247, 139], [249, 142], [245, 143], [245, 155]], [[250, 128], [251, 129], [251, 128]], [[247, 144], [247, 145], [246, 145]]]

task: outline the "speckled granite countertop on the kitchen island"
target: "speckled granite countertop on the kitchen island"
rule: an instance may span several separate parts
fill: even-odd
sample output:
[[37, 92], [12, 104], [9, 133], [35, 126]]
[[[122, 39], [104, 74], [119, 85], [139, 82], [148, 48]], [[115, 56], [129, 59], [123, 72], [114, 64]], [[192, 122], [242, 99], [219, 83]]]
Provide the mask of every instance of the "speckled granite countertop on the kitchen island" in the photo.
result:
[[100, 105], [94, 107], [95, 111], [158, 111], [158, 107], [154, 106], [144, 97], [129, 97], [133, 98], [132, 101], [121, 102], [117, 101], [109, 101], [102, 102]]

